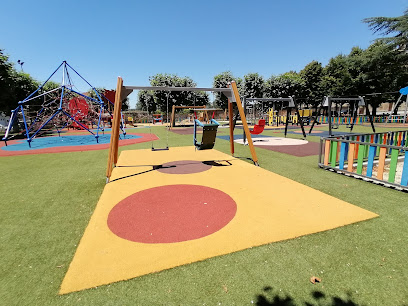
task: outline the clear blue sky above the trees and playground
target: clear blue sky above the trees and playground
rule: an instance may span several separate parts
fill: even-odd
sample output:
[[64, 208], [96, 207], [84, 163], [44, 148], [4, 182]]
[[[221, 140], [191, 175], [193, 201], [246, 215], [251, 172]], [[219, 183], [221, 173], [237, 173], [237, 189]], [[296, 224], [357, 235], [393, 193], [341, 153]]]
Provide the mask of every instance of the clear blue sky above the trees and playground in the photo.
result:
[[325, 65], [377, 37], [363, 18], [406, 8], [406, 0], [9, 0], [1, 5], [0, 49], [40, 81], [66, 60], [95, 87], [113, 89], [118, 76], [148, 85], [157, 73], [211, 87], [228, 70], [269, 78], [313, 60]]

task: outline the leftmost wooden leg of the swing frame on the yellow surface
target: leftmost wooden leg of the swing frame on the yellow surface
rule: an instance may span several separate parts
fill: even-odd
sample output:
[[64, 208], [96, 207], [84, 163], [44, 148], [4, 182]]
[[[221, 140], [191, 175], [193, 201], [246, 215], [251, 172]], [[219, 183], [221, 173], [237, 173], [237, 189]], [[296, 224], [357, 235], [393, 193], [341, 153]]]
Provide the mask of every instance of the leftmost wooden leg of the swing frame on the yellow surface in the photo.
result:
[[113, 124], [111, 131], [111, 139], [109, 145], [108, 167], [106, 169], [106, 183], [109, 182], [109, 178], [112, 175], [112, 168], [118, 161], [118, 146], [119, 146], [119, 127], [120, 127], [120, 111], [122, 108], [122, 86], [123, 79], [118, 77], [116, 85], [116, 96], [113, 110]]

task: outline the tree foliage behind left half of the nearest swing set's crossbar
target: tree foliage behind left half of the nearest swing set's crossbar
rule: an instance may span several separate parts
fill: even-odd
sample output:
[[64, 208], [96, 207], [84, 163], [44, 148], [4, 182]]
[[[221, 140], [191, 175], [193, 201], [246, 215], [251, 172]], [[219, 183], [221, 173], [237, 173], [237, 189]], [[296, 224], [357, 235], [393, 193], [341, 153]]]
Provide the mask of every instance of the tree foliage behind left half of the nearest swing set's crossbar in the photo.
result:
[[[156, 74], [149, 78], [151, 86], [196, 87], [197, 84], [189, 77], [175, 74]], [[170, 112], [173, 105], [202, 106], [209, 102], [206, 92], [192, 91], [143, 91], [139, 92], [138, 108], [149, 112]]]

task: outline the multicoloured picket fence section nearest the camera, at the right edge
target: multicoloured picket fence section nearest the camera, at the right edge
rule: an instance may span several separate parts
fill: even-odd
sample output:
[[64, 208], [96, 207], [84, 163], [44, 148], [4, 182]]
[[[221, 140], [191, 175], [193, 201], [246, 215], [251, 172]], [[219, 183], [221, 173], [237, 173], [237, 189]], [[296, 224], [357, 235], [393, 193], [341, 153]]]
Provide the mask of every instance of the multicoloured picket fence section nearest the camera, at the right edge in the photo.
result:
[[319, 166], [408, 190], [408, 130], [322, 137]]

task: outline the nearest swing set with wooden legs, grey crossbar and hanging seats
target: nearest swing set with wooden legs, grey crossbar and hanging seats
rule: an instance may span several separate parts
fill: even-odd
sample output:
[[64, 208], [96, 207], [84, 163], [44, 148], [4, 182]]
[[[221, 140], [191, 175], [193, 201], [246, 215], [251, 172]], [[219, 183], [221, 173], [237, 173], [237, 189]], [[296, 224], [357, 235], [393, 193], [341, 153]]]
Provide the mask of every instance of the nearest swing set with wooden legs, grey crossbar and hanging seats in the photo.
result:
[[[118, 77], [117, 86], [116, 86], [116, 101], [114, 113], [113, 113], [113, 126], [112, 126], [112, 136], [109, 146], [109, 157], [108, 165], [106, 170], [106, 183], [109, 182], [109, 179], [112, 175], [112, 170], [116, 167], [118, 162], [118, 153], [119, 153], [119, 128], [120, 128], [120, 109], [122, 107], [121, 101], [125, 99], [133, 90], [160, 90], [160, 91], [208, 91], [208, 92], [221, 92], [228, 98], [228, 113], [229, 113], [229, 132], [230, 132], [230, 151], [231, 155], [234, 156], [234, 124], [233, 124], [233, 103], [236, 103], [242, 125], [244, 127], [244, 133], [248, 139], [248, 145], [250, 148], [252, 161], [254, 165], [259, 166], [258, 157], [255, 152], [255, 147], [252, 142], [252, 137], [248, 124], [245, 117], [245, 111], [242, 107], [241, 99], [239, 97], [238, 88], [235, 81], [232, 81], [227, 88], [198, 88], [198, 87], [165, 87], [165, 86], [124, 86], [123, 79]], [[201, 109], [202, 110], [202, 109]], [[209, 124], [203, 124], [199, 120], [194, 120], [194, 145], [198, 150], [207, 150], [212, 149], [215, 143], [215, 137], [217, 134], [217, 128], [219, 123], [215, 119], [211, 119]], [[197, 141], [197, 129], [203, 129], [201, 141]], [[168, 150], [167, 147], [165, 150]], [[156, 149], [157, 150], [157, 149]]]

